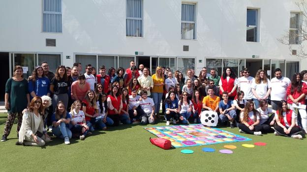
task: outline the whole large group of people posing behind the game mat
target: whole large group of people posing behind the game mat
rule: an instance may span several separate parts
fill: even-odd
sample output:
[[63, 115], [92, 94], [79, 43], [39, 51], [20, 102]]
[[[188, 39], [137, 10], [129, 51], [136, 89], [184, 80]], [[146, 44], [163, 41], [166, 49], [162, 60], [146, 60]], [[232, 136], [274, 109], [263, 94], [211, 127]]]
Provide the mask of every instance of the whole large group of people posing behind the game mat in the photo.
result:
[[203, 111], [215, 111], [219, 125], [238, 126], [242, 133], [302, 139], [307, 132], [306, 70], [290, 80], [276, 68], [271, 81], [262, 69], [253, 78], [245, 68], [237, 78], [228, 67], [221, 77], [214, 68], [208, 74], [206, 67], [198, 76], [193, 69], [183, 74], [160, 66], [150, 75], [148, 67], [137, 68], [133, 60], [127, 69], [111, 67], [107, 73], [102, 65], [96, 74], [87, 64], [85, 71], [74, 63], [58, 66], [54, 74], [44, 61], [26, 80], [22, 66], [15, 66], [5, 86], [8, 117], [1, 141], [7, 140], [16, 116], [16, 144], [34, 146], [50, 141], [47, 130], [70, 144], [72, 137], [84, 140], [107, 126], [154, 124], [160, 114], [166, 125], [200, 123]]

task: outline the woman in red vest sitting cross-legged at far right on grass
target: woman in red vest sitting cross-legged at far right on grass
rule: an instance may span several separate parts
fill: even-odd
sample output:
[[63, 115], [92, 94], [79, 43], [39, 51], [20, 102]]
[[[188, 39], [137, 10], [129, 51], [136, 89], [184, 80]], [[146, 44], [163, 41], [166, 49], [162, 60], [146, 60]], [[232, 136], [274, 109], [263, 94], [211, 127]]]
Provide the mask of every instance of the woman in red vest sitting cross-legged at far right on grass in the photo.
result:
[[288, 109], [287, 102], [281, 100], [277, 112], [275, 113], [276, 124], [274, 126], [276, 136], [287, 136], [295, 139], [302, 139], [301, 129], [296, 126], [296, 114]]

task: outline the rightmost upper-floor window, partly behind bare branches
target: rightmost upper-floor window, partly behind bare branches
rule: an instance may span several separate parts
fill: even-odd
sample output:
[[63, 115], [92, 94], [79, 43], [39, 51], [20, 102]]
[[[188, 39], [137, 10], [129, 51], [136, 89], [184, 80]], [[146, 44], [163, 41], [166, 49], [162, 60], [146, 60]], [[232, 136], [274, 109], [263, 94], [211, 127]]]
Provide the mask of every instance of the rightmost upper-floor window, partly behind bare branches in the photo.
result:
[[290, 13], [290, 30], [289, 30], [289, 43], [299, 44], [299, 16], [300, 13]]

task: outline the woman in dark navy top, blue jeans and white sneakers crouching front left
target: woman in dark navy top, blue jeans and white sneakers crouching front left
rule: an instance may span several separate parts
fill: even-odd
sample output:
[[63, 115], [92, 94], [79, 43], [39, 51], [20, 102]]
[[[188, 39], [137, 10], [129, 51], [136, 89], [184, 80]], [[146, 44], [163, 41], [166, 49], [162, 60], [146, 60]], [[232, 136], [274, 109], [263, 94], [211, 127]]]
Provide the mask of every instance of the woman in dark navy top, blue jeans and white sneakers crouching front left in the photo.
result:
[[64, 103], [59, 101], [56, 107], [56, 112], [51, 116], [52, 133], [61, 139], [64, 139], [65, 144], [70, 144], [71, 131], [69, 130], [69, 122], [71, 116], [66, 111]]

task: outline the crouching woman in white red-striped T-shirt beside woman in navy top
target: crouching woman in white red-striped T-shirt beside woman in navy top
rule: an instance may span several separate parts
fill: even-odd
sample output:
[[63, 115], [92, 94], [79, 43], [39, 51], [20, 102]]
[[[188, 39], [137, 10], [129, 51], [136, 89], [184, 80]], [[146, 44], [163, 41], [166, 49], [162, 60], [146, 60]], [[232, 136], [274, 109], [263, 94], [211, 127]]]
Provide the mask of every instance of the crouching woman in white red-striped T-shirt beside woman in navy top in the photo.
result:
[[80, 110], [81, 106], [82, 105], [79, 100], [74, 101], [71, 105], [69, 115], [71, 116], [70, 130], [72, 134], [79, 136], [80, 140], [83, 141], [89, 133], [92, 124], [86, 123], [84, 112]]

